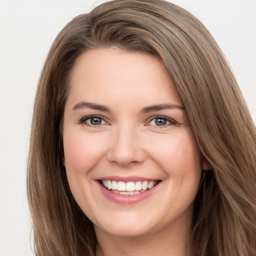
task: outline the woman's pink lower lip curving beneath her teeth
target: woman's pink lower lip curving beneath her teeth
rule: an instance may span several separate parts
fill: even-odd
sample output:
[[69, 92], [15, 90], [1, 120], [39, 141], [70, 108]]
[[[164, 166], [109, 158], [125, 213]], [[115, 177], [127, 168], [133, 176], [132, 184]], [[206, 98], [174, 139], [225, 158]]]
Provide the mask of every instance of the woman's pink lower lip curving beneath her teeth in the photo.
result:
[[121, 203], [121, 204], [131, 204], [131, 203], [140, 202], [146, 199], [147, 197], [149, 197], [150, 195], [152, 195], [152, 193], [155, 192], [155, 190], [157, 189], [160, 182], [156, 184], [154, 187], [152, 187], [151, 189], [146, 190], [144, 192], [140, 192], [138, 194], [117, 194], [103, 187], [99, 183], [99, 181], [97, 181], [97, 183], [103, 195], [110, 201]]

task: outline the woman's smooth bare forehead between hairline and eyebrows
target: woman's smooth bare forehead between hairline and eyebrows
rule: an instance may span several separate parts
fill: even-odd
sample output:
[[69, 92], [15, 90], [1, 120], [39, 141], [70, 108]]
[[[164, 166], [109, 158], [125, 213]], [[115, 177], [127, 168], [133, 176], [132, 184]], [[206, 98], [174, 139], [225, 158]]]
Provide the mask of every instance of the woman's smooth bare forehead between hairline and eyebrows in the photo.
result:
[[99, 101], [105, 105], [182, 104], [161, 60], [147, 53], [118, 48], [83, 53], [72, 70], [70, 85], [72, 101]]

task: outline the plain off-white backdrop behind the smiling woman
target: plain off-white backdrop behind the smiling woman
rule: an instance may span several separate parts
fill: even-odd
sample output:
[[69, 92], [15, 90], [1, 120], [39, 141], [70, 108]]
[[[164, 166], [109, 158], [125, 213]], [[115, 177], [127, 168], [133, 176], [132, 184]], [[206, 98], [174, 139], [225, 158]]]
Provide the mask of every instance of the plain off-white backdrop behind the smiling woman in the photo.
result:
[[[171, 0], [170, 0], [171, 1]], [[26, 158], [36, 83], [59, 30], [95, 0], [0, 0], [0, 256], [30, 256]], [[226, 55], [256, 120], [256, 0], [172, 0]]]

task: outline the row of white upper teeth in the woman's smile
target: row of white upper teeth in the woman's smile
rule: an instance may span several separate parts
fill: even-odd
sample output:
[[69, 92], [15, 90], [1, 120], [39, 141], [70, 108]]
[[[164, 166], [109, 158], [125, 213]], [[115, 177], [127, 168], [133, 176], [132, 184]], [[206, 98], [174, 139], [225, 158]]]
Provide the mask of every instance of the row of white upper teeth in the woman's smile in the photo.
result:
[[147, 190], [152, 188], [156, 184], [156, 180], [151, 181], [133, 181], [123, 182], [115, 180], [102, 180], [102, 184], [107, 189], [113, 189], [118, 191], [140, 191], [141, 189]]

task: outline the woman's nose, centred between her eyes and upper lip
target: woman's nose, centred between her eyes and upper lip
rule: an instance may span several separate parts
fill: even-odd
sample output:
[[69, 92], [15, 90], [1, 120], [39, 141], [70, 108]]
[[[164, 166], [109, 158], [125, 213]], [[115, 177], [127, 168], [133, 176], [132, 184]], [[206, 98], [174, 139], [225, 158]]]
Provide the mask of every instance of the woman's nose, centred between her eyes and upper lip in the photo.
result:
[[134, 128], [120, 128], [115, 132], [111, 141], [107, 152], [110, 162], [127, 167], [144, 161], [146, 153], [141, 146], [139, 134]]

